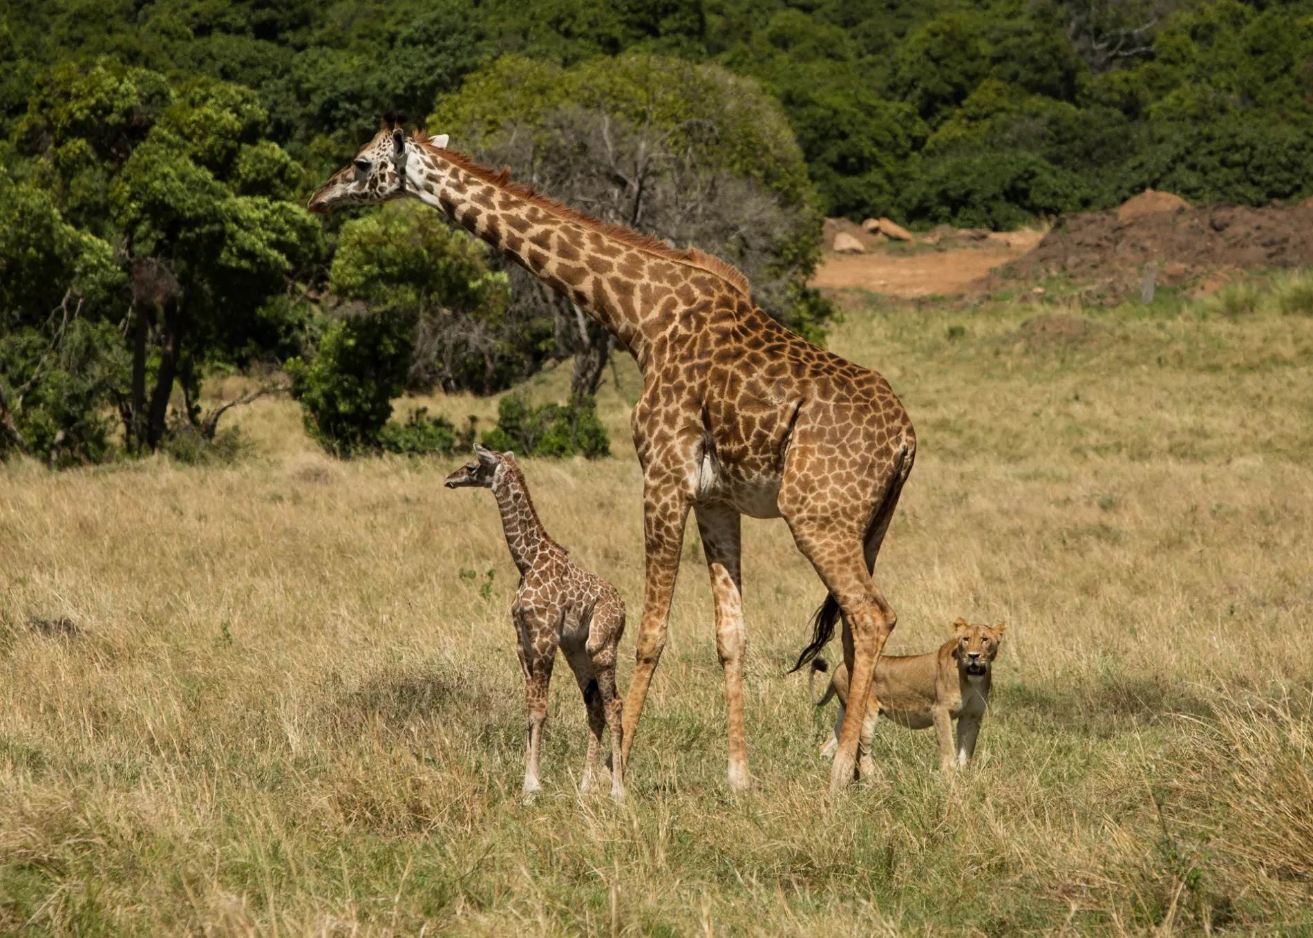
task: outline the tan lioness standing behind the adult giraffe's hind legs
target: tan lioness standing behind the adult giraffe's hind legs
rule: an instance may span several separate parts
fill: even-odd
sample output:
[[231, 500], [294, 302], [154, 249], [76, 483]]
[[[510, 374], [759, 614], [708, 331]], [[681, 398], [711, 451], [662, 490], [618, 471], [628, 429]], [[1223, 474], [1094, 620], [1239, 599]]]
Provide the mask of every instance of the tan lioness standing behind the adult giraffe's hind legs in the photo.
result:
[[[871, 759], [871, 737], [876, 719], [886, 716], [909, 729], [935, 728], [939, 737], [939, 766], [952, 772], [955, 762], [965, 766], [976, 753], [976, 734], [979, 733], [985, 707], [989, 704], [990, 673], [998, 642], [1007, 623], [997, 627], [969, 625], [965, 619], [953, 623], [953, 638], [937, 652], [927, 654], [881, 656], [872, 682], [880, 712], [868, 716], [861, 726], [859, 749], [863, 762]], [[815, 677], [829, 670], [825, 658], [811, 662], [809, 688], [817, 707], [839, 695], [839, 715], [834, 723], [834, 737], [822, 753], [829, 755], [839, 745], [844, 707], [848, 702], [848, 669], [839, 665], [825, 695], [815, 699]], [[949, 721], [957, 720], [957, 758], [953, 758], [953, 733]]]

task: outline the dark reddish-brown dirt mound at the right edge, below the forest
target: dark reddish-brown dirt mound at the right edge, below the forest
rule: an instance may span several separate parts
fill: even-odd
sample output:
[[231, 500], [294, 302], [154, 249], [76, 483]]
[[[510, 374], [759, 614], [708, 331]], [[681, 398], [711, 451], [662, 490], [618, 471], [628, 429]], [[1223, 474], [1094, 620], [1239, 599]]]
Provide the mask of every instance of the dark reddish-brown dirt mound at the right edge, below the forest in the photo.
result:
[[[1313, 206], [1178, 206], [1125, 219], [1119, 212], [1066, 215], [1012, 268], [1028, 280], [1066, 275], [1116, 302], [1140, 292], [1150, 263], [1157, 264], [1157, 282], [1167, 286], [1215, 272], [1313, 264]], [[987, 288], [1007, 282], [995, 275]]]

